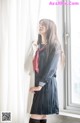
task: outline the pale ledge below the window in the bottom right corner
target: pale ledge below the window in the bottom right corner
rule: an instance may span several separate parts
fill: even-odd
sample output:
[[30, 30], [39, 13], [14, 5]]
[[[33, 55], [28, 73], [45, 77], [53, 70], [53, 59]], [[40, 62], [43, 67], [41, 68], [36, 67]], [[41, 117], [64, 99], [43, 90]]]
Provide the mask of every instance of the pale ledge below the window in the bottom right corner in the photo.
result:
[[47, 123], [80, 123], [80, 118], [73, 118], [68, 116], [48, 116]]

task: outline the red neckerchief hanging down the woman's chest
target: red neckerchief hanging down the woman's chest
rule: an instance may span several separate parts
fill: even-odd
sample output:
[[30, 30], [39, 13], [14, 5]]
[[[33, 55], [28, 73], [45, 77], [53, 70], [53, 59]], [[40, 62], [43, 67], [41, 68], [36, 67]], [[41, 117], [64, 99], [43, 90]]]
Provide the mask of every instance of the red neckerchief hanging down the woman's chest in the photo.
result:
[[39, 53], [44, 50], [45, 46], [42, 48], [38, 48], [38, 50], [36, 51], [36, 54], [34, 56], [33, 59], [33, 69], [34, 71], [36, 71], [37, 73], [39, 73]]

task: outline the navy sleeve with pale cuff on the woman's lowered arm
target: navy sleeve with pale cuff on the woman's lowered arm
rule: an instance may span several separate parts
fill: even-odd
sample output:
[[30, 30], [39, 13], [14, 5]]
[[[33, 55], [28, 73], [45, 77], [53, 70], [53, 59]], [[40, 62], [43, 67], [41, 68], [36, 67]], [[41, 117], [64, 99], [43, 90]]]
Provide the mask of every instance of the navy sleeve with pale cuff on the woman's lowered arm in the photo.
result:
[[39, 86], [43, 87], [46, 83], [48, 83], [48, 80], [55, 75], [59, 56], [60, 56], [59, 50], [55, 51], [54, 53], [51, 53], [49, 60], [46, 64], [45, 71], [42, 75], [41, 80], [39, 81]]

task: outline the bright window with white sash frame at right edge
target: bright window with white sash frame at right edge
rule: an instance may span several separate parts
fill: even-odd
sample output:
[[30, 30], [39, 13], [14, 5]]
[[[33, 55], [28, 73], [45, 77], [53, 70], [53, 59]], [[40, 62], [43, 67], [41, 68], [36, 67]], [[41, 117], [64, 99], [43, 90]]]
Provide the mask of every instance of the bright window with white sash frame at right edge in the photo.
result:
[[[78, 0], [77, 0], [78, 1]], [[69, 2], [69, 0], [67, 0]], [[76, 1], [75, 1], [76, 2]], [[78, 1], [79, 2], [79, 1]], [[65, 109], [80, 112], [80, 6], [63, 6], [66, 66]]]

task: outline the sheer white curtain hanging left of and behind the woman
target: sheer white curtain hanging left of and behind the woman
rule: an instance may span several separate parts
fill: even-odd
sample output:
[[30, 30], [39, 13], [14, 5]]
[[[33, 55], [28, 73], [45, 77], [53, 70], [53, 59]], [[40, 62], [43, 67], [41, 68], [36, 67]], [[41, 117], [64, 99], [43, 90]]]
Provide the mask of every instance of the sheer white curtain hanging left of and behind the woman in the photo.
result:
[[40, 18], [56, 21], [49, 0], [0, 0], [0, 113], [10, 111], [12, 123], [28, 123], [24, 59]]

